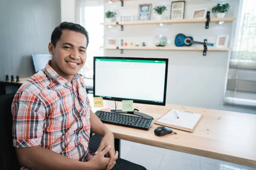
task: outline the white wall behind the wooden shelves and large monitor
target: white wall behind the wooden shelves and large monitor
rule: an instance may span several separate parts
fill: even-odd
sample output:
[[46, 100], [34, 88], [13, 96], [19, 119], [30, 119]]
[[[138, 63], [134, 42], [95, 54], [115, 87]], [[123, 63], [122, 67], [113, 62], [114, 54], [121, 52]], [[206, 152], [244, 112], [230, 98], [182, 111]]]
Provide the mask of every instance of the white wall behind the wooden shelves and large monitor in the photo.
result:
[[[152, 8], [158, 5], [165, 5], [168, 8], [167, 17], [170, 16], [171, 0], [136, 0], [125, 1], [124, 6], [120, 3], [105, 3], [105, 11], [115, 9], [117, 17], [120, 14], [133, 14], [137, 20], [139, 4], [151, 3]], [[227, 0], [232, 7], [226, 17], [237, 15], [238, 0]], [[187, 0], [185, 7], [185, 18], [191, 18], [192, 10], [198, 8], [211, 8], [218, 3], [217, 0]], [[210, 17], [215, 17], [212, 13]], [[154, 20], [155, 14], [151, 13]], [[233, 39], [234, 23], [224, 23], [218, 25], [210, 23], [209, 29], [204, 29], [204, 23], [169, 24], [160, 27], [158, 25], [138, 25], [124, 26], [124, 31], [120, 27], [108, 28], [105, 26], [105, 40], [108, 37], [122, 37], [125, 41], [133, 40], [134, 43], [146, 42], [148, 46], [153, 46], [154, 37], [163, 34], [170, 41], [168, 46], [174, 46], [176, 34], [183, 33], [194, 37], [194, 40], [215, 43], [216, 37], [221, 34], [229, 34]], [[197, 45], [198, 46], [198, 45]], [[200, 46], [200, 45], [199, 45]], [[231, 45], [232, 46], [232, 45]], [[244, 113], [256, 113], [252, 108], [233, 107], [223, 104], [224, 91], [226, 88], [226, 77], [228, 71], [229, 52], [228, 51], [208, 51], [207, 56], [202, 55], [202, 51], [146, 51], [146, 50], [124, 50], [120, 54], [119, 50], [105, 50], [105, 56], [114, 57], [151, 57], [169, 58], [168, 82], [166, 102], [178, 105], [189, 105], [202, 108], [212, 108], [227, 111], [238, 111]]]

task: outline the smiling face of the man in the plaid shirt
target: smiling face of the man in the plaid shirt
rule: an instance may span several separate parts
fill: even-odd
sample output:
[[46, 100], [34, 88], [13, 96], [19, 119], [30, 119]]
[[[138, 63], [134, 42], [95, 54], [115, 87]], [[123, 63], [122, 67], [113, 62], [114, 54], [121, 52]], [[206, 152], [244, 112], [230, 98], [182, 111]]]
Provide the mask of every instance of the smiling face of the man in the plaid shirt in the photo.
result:
[[51, 67], [63, 78], [73, 77], [86, 61], [86, 46], [87, 38], [84, 34], [63, 30], [55, 48], [49, 43]]

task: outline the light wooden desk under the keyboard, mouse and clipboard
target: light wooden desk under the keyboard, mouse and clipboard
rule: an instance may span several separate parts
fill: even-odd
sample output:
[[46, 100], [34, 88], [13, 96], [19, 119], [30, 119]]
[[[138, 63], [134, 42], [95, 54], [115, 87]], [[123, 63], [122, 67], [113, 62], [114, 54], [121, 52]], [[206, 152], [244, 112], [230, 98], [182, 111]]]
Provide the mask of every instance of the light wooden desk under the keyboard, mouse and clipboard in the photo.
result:
[[[104, 101], [104, 106], [114, 108], [114, 102]], [[121, 109], [122, 102], [118, 106]], [[171, 109], [200, 113], [203, 118], [194, 133], [173, 129], [177, 135], [160, 137], [154, 135], [154, 129], [160, 126], [156, 124], [149, 130], [105, 124], [115, 138], [256, 167], [256, 115], [170, 104], [134, 103], [134, 108], [155, 120]]]

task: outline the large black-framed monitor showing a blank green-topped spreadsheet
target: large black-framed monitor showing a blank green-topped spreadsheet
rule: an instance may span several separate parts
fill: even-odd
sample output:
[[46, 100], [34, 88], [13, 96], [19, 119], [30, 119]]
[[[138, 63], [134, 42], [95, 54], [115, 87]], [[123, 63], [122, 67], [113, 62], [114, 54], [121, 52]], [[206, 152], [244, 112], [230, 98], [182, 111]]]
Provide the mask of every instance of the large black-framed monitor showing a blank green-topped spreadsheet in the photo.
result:
[[168, 59], [94, 57], [93, 95], [165, 105]]

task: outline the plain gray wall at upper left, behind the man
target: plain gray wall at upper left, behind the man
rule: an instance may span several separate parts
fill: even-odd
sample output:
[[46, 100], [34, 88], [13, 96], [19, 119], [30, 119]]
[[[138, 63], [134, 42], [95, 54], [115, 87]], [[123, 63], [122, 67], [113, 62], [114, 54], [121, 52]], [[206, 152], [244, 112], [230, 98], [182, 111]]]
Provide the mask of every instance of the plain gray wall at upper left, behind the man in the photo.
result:
[[35, 74], [31, 54], [49, 54], [51, 33], [60, 22], [60, 0], [1, 0], [0, 80], [6, 74]]

